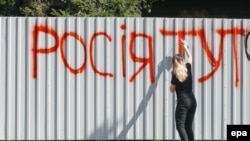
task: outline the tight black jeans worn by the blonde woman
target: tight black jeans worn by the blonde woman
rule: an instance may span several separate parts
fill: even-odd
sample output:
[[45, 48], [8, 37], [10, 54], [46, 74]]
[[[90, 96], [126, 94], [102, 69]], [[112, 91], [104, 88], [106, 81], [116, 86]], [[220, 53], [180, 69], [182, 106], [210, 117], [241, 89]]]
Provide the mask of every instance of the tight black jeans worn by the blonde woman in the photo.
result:
[[192, 92], [177, 96], [175, 120], [182, 141], [194, 141], [192, 123], [196, 111], [196, 99]]

